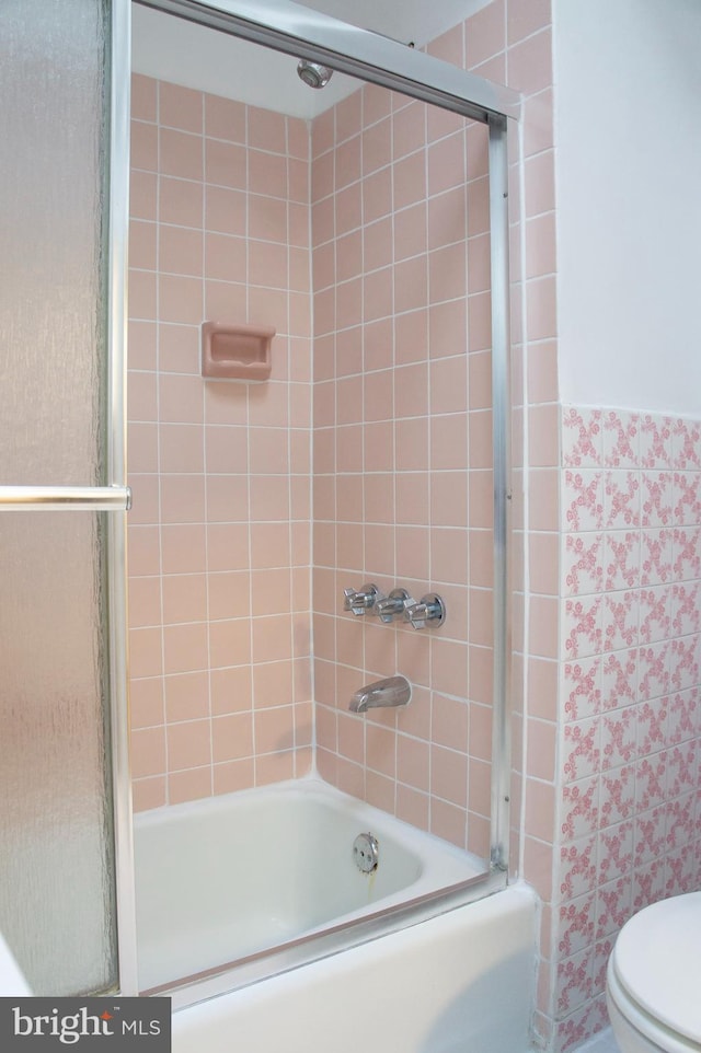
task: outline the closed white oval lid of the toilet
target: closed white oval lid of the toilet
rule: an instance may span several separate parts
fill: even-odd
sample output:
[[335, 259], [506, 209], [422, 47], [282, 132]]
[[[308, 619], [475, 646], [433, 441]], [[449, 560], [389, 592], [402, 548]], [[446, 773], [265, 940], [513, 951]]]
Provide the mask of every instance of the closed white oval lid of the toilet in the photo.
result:
[[655, 1019], [701, 1042], [701, 892], [653, 903], [621, 929], [616, 974]]

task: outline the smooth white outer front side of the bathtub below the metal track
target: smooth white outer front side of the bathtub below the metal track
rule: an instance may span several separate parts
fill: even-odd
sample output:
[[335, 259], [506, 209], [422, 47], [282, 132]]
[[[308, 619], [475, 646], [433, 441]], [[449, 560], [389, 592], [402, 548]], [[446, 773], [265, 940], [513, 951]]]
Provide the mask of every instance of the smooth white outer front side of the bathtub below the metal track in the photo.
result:
[[512, 886], [173, 1014], [173, 1053], [527, 1053], [536, 901]]

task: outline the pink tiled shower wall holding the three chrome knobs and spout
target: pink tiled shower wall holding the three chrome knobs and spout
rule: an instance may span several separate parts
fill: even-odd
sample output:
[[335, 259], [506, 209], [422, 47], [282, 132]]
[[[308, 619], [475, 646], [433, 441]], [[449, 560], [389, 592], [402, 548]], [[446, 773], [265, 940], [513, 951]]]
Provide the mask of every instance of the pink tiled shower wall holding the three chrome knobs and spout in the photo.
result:
[[[461, 65], [462, 32], [451, 35]], [[484, 856], [485, 129], [366, 86], [314, 121], [312, 151], [318, 764], [343, 789]], [[440, 593], [445, 625], [343, 613], [343, 589], [368, 581]], [[395, 672], [413, 684], [406, 710], [348, 713], [355, 691]]]

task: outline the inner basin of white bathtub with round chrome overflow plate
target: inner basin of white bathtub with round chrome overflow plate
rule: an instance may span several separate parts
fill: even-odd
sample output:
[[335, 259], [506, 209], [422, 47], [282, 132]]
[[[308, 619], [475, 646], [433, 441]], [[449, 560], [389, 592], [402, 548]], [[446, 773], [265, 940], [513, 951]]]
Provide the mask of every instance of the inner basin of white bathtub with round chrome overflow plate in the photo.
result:
[[[357, 834], [379, 842], [363, 873]], [[484, 863], [318, 779], [136, 817], [141, 991], [484, 873]]]

